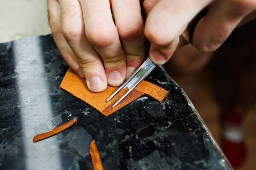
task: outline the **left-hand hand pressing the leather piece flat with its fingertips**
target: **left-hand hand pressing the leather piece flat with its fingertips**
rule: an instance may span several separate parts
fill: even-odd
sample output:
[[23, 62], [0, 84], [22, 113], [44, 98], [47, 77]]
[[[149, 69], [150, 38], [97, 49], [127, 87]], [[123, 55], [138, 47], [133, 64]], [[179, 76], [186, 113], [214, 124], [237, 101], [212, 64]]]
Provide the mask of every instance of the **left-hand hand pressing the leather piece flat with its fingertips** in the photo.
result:
[[47, 7], [61, 55], [90, 91], [121, 85], [144, 61], [139, 0], [47, 0]]

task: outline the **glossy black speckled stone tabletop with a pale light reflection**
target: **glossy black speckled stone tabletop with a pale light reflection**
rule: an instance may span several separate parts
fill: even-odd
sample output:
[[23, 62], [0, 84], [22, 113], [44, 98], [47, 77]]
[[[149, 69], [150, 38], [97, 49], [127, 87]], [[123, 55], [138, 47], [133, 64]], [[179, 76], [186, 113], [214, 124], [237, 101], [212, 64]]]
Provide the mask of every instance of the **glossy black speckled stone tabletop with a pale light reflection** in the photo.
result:
[[[104, 117], [62, 91], [67, 65], [51, 35], [0, 44], [0, 169], [92, 170], [96, 141], [104, 170], [229, 170], [222, 152], [182, 89], [159, 67], [148, 77], [169, 91]], [[76, 117], [63, 132], [34, 135]]]

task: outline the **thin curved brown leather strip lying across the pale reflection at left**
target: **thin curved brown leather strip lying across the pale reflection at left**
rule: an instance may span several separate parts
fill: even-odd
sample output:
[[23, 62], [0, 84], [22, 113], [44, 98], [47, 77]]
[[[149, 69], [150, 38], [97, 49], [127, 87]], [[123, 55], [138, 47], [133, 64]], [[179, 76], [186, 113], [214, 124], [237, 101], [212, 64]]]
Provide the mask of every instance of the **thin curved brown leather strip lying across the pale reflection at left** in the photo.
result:
[[61, 126], [53, 128], [52, 131], [35, 135], [34, 139], [33, 139], [33, 142], [41, 141], [43, 139], [46, 139], [46, 138], [51, 137], [53, 135], [56, 135], [57, 133], [62, 132], [63, 130], [69, 128], [70, 126], [72, 126], [75, 123], [76, 123], [76, 119], [74, 118], [71, 121], [69, 121], [69, 122], [67, 122], [67, 123], [65, 123]]

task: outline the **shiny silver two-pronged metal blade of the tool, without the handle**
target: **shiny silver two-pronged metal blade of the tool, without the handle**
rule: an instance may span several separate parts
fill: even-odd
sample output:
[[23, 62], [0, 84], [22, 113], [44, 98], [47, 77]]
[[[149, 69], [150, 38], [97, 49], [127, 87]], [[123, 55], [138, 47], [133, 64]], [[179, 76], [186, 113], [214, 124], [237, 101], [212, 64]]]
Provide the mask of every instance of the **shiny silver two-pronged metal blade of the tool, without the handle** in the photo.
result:
[[128, 94], [130, 94], [137, 86], [138, 84], [148, 76], [148, 74], [155, 68], [155, 64], [153, 64], [148, 57], [147, 60], [141, 64], [141, 66], [135, 71], [135, 73], [132, 74], [132, 76], [122, 84], [117, 91], [115, 91], [108, 99], [106, 99], [106, 102], [108, 102], [112, 97], [114, 97], [119, 91], [123, 90], [124, 88], [128, 87], [128, 91], [112, 106], [114, 108], [121, 102]]

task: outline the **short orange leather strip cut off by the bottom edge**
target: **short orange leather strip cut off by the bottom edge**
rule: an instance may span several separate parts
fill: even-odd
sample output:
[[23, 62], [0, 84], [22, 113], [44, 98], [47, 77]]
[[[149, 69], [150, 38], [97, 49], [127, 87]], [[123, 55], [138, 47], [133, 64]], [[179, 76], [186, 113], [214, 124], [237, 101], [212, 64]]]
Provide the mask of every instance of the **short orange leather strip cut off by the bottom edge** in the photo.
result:
[[101, 163], [101, 157], [99, 156], [99, 152], [95, 145], [95, 141], [91, 142], [89, 152], [90, 152], [91, 159], [92, 159], [93, 169], [94, 170], [103, 170], [103, 166]]

